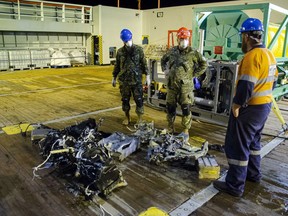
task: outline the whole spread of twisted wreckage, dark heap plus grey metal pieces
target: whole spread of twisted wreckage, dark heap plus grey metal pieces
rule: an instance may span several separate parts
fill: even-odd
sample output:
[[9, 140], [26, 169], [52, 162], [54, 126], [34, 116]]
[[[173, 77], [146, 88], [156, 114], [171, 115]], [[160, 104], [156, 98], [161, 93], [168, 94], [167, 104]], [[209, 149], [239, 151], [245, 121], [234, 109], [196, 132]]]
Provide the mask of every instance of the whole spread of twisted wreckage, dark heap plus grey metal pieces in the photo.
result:
[[83, 192], [87, 197], [104, 195], [107, 197], [115, 188], [126, 186], [122, 172], [116, 166], [116, 158], [123, 161], [140, 148], [148, 144], [149, 162], [197, 160], [208, 152], [208, 142], [201, 141], [201, 147], [195, 147], [183, 140], [154, 128], [154, 123], [142, 122], [132, 134], [121, 132], [106, 134], [99, 131], [102, 119], [94, 119], [56, 130], [41, 126], [32, 131], [32, 143], [38, 144], [45, 161], [33, 168], [37, 171], [54, 167], [63, 177], [67, 177], [73, 187], [70, 190]]

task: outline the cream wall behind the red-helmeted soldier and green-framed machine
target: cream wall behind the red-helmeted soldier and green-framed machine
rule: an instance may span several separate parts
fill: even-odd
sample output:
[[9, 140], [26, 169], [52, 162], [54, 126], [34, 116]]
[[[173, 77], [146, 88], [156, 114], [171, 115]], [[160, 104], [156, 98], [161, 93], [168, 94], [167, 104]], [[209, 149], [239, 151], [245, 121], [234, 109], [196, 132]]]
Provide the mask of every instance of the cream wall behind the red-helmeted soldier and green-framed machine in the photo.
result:
[[[272, 3], [288, 9], [287, 0], [250, 0], [249, 4], [257, 3]], [[182, 26], [189, 29], [192, 27], [192, 10], [194, 7], [208, 7], [212, 8], [215, 6], [227, 6], [227, 5], [239, 5], [247, 3], [247, 0], [238, 0], [230, 2], [218, 2], [210, 4], [197, 4], [187, 5], [179, 7], [168, 7], [160, 9], [151, 9], [143, 11], [143, 28], [142, 34], [149, 35], [150, 44], [167, 44], [168, 30], [176, 30]], [[157, 13], [163, 13], [163, 17], [157, 17]], [[260, 10], [245, 10], [245, 13], [249, 17], [256, 17], [262, 19], [262, 12]], [[284, 18], [283, 15], [273, 11], [271, 13], [271, 21], [278, 23]]]

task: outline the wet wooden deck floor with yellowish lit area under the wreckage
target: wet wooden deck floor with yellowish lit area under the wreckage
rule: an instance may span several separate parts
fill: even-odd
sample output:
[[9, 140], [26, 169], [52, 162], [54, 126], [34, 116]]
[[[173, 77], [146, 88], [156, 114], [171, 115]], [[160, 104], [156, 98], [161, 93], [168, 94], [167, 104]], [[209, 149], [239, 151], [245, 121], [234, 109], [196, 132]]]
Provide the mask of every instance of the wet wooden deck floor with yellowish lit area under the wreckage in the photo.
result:
[[[111, 86], [110, 66], [41, 69], [0, 73], [0, 127], [20, 122], [44, 123], [64, 128], [89, 117], [104, 118], [105, 132], [129, 130], [121, 125], [123, 113], [118, 88]], [[288, 120], [288, 100], [279, 103]], [[134, 122], [136, 114], [132, 107]], [[144, 119], [165, 128], [165, 113], [145, 107]], [[271, 112], [263, 131], [263, 145], [281, 129]], [[180, 132], [180, 118], [176, 118]], [[191, 136], [210, 144], [223, 144], [225, 127], [193, 122]], [[263, 181], [247, 183], [244, 196], [218, 193], [191, 215], [288, 215], [287, 139], [262, 160]], [[225, 155], [216, 155], [221, 170], [227, 169]], [[107, 200], [85, 201], [66, 189], [66, 182], [52, 171], [32, 180], [32, 168], [42, 162], [30, 137], [0, 134], [0, 215], [124, 215], [136, 216], [155, 206], [170, 212], [193, 194], [205, 190], [212, 180], [198, 179], [196, 170], [181, 166], [156, 166], [145, 159], [146, 148], [119, 163], [128, 185], [116, 189]], [[99, 207], [99, 204], [102, 208]], [[103, 211], [107, 211], [103, 214]], [[109, 213], [108, 213], [109, 212]], [[185, 215], [184, 213], [181, 214]]]

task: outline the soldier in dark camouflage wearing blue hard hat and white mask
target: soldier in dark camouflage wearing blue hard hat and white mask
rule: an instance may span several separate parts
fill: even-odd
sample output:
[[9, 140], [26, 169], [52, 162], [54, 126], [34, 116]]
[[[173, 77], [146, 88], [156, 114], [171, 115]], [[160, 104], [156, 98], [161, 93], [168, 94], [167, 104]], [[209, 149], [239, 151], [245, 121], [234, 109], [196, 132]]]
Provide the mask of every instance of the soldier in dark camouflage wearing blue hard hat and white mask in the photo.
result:
[[150, 84], [147, 62], [142, 47], [133, 44], [132, 33], [123, 29], [120, 33], [124, 46], [116, 54], [116, 64], [113, 70], [112, 86], [116, 87], [118, 77], [120, 93], [122, 97], [122, 110], [126, 118], [124, 125], [131, 122], [130, 118], [130, 97], [133, 95], [136, 103], [138, 123], [142, 121], [144, 114], [142, 74], [146, 74], [147, 85]]

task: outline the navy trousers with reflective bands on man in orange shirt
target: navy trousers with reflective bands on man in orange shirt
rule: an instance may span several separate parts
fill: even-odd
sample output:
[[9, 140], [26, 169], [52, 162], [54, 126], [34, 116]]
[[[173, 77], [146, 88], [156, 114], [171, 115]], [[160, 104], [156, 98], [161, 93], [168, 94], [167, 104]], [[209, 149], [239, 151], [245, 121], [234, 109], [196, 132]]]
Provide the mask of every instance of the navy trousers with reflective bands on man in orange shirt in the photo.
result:
[[271, 110], [271, 104], [240, 108], [239, 116], [230, 114], [225, 153], [229, 164], [226, 184], [235, 192], [243, 192], [246, 178], [260, 180], [261, 131]]

